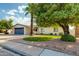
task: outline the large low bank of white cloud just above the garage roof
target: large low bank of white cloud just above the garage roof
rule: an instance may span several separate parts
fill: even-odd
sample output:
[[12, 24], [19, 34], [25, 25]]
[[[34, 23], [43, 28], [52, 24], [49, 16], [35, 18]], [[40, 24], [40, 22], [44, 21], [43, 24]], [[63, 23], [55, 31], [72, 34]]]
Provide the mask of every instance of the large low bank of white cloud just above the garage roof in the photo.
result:
[[16, 17], [16, 16], [5, 16], [5, 19], [6, 20], [9, 20], [9, 19], [13, 19], [13, 24], [23, 24], [23, 25], [30, 25], [30, 18], [28, 17]]

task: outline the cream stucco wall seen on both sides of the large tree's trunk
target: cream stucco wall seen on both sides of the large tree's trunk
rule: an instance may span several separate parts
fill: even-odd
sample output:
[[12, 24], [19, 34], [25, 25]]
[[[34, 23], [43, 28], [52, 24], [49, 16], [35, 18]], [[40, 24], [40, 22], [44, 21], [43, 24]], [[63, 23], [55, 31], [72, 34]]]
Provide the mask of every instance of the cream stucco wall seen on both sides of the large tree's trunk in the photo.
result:
[[[53, 33], [53, 34], [57, 34], [59, 35], [60, 33], [64, 33], [63, 32], [63, 29], [61, 27], [58, 27], [58, 31], [57, 32], [54, 32], [54, 28], [53, 27], [47, 27], [47, 28], [42, 28], [42, 33], [44, 34], [50, 34], [50, 33]], [[69, 32], [71, 35], [75, 36], [75, 26], [69, 26]], [[41, 28], [38, 29], [37, 32], [35, 32], [37, 34], [40, 34], [41, 33]]]

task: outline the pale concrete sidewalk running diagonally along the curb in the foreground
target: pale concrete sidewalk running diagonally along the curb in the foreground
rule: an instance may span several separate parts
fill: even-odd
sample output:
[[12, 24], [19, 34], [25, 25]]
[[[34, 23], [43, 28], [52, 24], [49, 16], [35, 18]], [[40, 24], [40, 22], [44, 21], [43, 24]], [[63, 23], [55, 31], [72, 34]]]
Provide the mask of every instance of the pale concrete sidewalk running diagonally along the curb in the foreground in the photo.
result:
[[0, 43], [0, 45], [23, 56], [70, 56], [65, 53], [12, 41]]

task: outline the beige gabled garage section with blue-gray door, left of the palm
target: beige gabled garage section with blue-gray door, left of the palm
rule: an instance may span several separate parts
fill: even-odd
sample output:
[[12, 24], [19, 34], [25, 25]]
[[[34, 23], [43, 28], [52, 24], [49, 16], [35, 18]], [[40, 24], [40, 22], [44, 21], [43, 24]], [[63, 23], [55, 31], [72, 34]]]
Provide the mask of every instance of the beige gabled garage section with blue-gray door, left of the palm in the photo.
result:
[[23, 35], [23, 34], [29, 34], [29, 33], [30, 33], [29, 26], [22, 25], [22, 24], [16, 24], [13, 26], [10, 34]]

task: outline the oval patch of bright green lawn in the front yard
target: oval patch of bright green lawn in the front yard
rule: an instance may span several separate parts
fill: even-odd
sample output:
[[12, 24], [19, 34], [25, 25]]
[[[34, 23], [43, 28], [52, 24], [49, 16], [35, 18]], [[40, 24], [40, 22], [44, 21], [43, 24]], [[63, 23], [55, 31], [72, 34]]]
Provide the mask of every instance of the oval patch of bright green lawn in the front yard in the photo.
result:
[[26, 41], [33, 41], [33, 42], [44, 42], [50, 41], [53, 39], [60, 38], [61, 36], [53, 36], [53, 35], [38, 35], [38, 36], [28, 36], [23, 38]]

